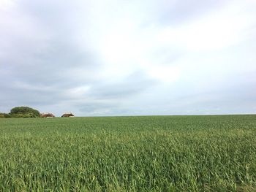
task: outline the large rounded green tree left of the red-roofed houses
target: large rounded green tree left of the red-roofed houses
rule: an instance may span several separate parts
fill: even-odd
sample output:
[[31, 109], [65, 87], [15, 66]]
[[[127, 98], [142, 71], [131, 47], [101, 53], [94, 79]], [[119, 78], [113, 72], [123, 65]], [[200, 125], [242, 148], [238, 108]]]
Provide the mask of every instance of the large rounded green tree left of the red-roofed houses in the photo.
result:
[[40, 113], [31, 107], [14, 107], [10, 115], [12, 118], [38, 118]]

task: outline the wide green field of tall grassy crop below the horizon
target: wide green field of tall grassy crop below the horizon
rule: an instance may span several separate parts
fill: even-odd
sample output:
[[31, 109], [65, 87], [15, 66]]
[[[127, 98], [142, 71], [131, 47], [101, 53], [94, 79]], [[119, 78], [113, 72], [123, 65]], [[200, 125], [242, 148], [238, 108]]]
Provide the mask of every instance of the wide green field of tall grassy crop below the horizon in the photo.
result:
[[256, 191], [256, 115], [0, 119], [0, 191]]

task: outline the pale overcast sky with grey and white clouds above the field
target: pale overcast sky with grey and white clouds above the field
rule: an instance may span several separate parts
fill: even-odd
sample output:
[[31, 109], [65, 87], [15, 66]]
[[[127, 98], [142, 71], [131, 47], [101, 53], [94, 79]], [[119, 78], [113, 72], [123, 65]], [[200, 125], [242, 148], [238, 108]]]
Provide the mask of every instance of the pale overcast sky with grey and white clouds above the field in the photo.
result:
[[256, 113], [255, 0], [0, 0], [0, 112]]

